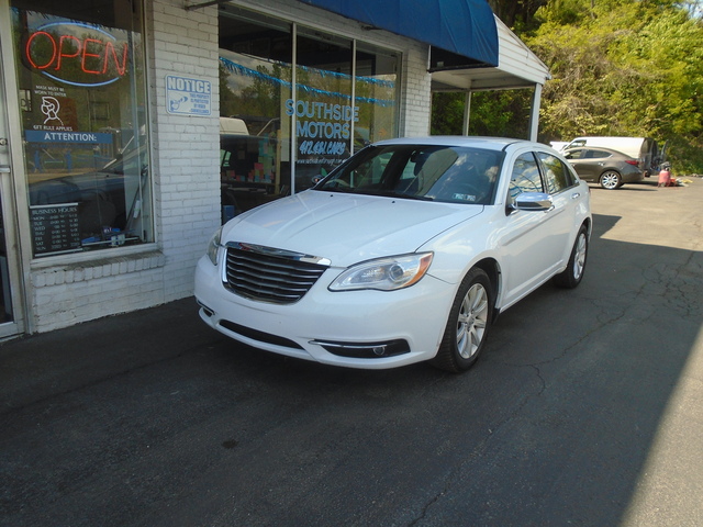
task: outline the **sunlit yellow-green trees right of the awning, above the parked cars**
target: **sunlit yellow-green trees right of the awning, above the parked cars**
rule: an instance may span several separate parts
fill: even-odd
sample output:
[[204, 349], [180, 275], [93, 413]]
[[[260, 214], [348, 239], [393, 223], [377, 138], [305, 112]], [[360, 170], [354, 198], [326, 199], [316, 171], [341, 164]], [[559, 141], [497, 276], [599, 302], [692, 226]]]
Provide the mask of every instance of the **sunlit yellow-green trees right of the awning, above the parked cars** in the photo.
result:
[[540, 138], [651, 136], [703, 172], [703, 25], [672, 0], [550, 0], [522, 38], [549, 66]]

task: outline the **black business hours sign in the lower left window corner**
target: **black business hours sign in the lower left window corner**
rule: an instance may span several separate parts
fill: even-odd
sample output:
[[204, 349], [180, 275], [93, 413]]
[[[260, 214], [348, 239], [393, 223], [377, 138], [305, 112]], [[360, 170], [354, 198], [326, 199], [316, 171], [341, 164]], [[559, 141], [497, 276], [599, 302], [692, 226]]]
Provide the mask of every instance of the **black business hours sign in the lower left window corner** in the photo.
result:
[[30, 208], [34, 256], [80, 250], [78, 203]]

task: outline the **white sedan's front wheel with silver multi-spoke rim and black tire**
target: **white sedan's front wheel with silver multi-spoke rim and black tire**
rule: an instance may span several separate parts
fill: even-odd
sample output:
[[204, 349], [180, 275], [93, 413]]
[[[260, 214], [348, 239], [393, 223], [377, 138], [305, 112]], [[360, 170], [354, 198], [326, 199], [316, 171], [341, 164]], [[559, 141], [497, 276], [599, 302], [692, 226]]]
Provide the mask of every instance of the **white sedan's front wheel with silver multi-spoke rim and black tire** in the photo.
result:
[[451, 303], [447, 326], [433, 366], [453, 373], [468, 370], [479, 358], [493, 317], [493, 287], [486, 271], [471, 269]]

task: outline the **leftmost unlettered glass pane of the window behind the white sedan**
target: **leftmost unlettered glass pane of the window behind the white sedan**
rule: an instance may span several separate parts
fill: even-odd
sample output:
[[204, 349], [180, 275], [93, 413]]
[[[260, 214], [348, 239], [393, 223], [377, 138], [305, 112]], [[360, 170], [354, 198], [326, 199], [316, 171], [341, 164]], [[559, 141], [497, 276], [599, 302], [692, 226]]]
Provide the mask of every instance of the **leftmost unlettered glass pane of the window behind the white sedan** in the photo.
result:
[[290, 24], [224, 5], [220, 13], [223, 221], [291, 191]]

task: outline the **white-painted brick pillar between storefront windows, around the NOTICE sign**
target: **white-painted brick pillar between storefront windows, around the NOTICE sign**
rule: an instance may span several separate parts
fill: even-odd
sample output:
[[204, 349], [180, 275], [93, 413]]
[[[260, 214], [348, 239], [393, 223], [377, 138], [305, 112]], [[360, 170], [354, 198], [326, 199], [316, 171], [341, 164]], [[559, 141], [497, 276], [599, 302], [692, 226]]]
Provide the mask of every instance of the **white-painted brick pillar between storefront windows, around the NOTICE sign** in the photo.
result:
[[[182, 0], [156, 0], [152, 8], [155, 198], [166, 302], [192, 294], [196, 262], [220, 224], [217, 9], [186, 11], [183, 5]], [[168, 114], [167, 75], [209, 80], [211, 116]]]

